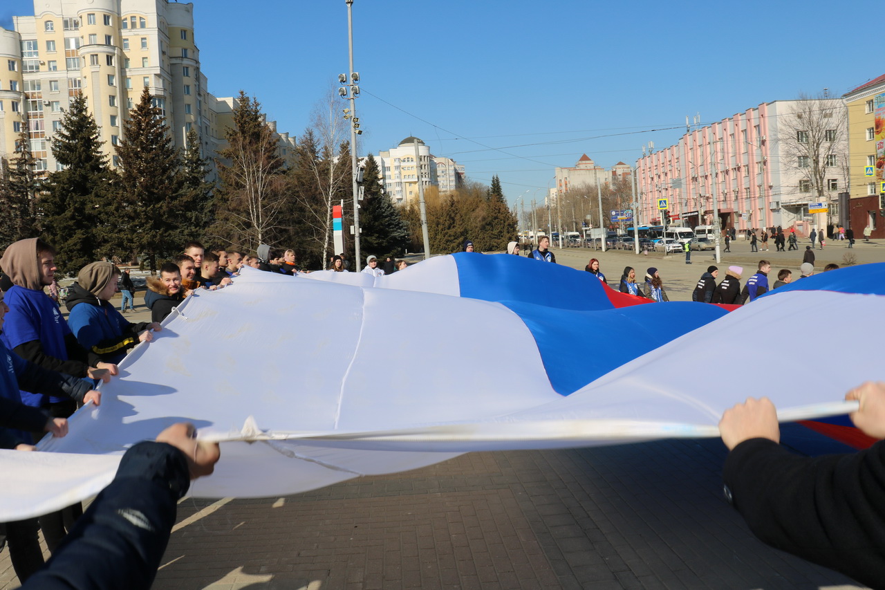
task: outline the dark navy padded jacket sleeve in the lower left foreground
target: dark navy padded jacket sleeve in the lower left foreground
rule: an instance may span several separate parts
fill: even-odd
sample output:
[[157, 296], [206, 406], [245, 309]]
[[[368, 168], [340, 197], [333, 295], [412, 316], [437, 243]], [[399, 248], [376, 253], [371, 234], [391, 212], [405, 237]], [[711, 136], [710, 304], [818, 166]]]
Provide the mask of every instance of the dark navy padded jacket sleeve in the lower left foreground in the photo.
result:
[[148, 590], [175, 524], [176, 501], [188, 486], [188, 462], [177, 448], [133, 446], [111, 485], [21, 590]]

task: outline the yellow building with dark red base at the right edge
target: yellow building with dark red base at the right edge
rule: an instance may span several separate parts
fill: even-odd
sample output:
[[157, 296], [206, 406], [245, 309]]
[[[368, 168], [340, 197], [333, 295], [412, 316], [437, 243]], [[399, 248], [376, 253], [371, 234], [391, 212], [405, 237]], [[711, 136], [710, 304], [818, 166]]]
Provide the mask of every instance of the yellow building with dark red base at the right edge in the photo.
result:
[[[848, 107], [849, 227], [854, 230], [855, 239], [862, 239], [867, 227], [871, 237], [885, 237], [885, 203], [880, 196], [881, 182], [885, 180], [885, 129], [881, 122], [878, 136], [876, 129], [876, 111], [885, 111], [885, 74], [851, 90], [843, 99]], [[872, 176], [867, 175], [870, 167]]]

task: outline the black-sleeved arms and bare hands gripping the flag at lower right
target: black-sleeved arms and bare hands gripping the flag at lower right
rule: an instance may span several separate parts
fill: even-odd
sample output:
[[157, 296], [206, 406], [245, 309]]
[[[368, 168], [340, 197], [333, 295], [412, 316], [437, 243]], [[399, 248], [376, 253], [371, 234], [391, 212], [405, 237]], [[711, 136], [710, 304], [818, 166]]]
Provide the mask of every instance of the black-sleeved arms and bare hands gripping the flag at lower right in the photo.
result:
[[885, 383], [845, 394], [851, 420], [873, 446], [805, 457], [778, 444], [771, 400], [748, 398], [720, 421], [730, 451], [726, 498], [760, 540], [874, 588], [885, 581]]

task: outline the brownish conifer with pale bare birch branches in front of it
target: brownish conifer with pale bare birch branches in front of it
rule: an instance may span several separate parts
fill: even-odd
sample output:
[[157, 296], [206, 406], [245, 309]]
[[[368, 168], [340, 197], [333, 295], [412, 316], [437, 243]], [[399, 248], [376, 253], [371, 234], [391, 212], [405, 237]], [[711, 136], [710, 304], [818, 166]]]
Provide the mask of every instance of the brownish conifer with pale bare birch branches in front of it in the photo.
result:
[[227, 242], [249, 250], [273, 245], [284, 231], [281, 212], [289, 206], [286, 174], [277, 138], [261, 113], [261, 105], [240, 91], [234, 127], [227, 147], [219, 151], [221, 186], [216, 191], [215, 230]]

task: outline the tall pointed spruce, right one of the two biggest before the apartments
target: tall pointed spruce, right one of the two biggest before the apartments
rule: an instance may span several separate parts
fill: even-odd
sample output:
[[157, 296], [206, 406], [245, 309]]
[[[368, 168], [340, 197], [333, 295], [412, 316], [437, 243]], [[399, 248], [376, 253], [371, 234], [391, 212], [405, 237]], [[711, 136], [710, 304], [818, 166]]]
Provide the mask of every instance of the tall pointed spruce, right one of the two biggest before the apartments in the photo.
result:
[[154, 272], [158, 256], [181, 249], [175, 238], [184, 220], [176, 202], [178, 150], [147, 87], [123, 124], [123, 137], [116, 146], [120, 171], [113, 245], [127, 259], [146, 254]]

